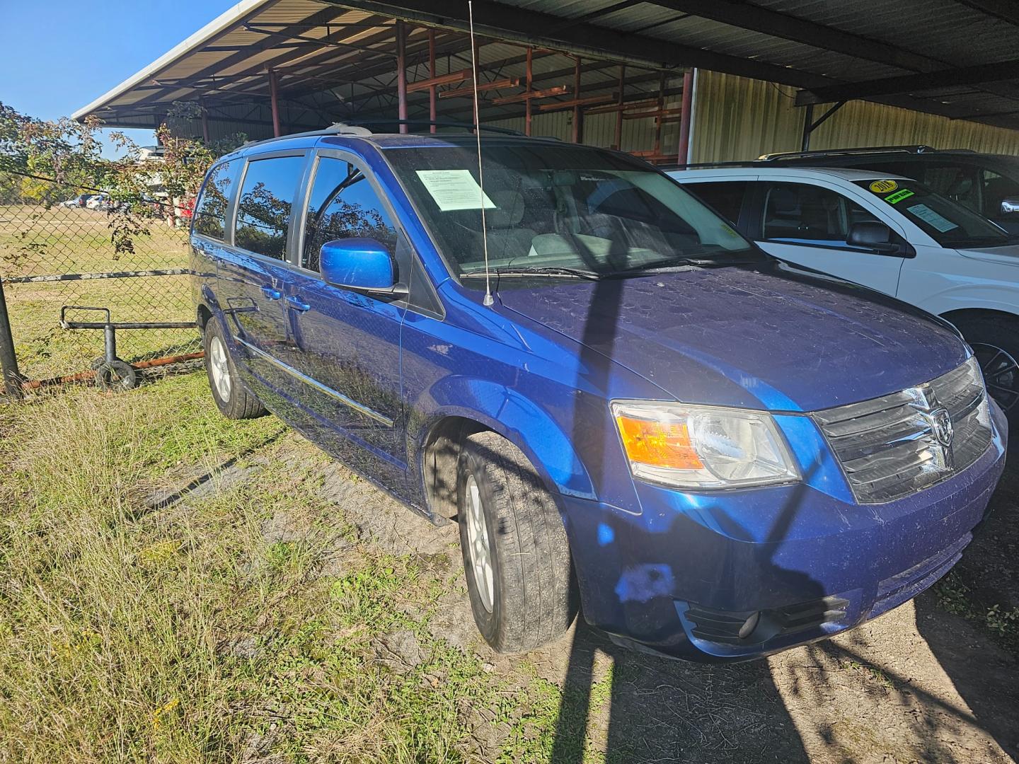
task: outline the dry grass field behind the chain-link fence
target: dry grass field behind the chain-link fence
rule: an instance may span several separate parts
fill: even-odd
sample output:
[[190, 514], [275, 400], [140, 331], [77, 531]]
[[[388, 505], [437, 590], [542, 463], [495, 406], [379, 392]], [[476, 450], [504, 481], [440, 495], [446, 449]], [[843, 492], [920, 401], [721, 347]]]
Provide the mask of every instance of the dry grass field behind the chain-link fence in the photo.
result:
[[[187, 267], [184, 230], [152, 220], [133, 253], [117, 253], [108, 220], [97, 210], [0, 206], [0, 278]], [[108, 307], [118, 322], [194, 318], [187, 276], [7, 283], [4, 291], [20, 370], [31, 379], [83, 371], [102, 354], [101, 331], [60, 328], [61, 306]], [[121, 331], [117, 340], [119, 356], [136, 360], [198, 349], [195, 338], [194, 330], [145, 329]], [[186, 349], [174, 349], [180, 346]]]

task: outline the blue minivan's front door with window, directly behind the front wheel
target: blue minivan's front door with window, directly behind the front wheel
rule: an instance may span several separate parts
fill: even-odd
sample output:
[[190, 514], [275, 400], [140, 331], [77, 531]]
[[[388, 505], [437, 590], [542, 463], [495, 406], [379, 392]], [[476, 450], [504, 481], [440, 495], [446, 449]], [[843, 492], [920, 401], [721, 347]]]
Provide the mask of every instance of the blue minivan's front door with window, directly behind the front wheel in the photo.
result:
[[400, 397], [400, 327], [406, 298], [327, 284], [326, 241], [374, 238], [409, 283], [412, 253], [381, 187], [359, 158], [323, 150], [303, 205], [300, 263], [283, 302], [293, 344], [286, 362], [305, 376], [304, 429], [359, 472], [393, 488], [407, 469]]

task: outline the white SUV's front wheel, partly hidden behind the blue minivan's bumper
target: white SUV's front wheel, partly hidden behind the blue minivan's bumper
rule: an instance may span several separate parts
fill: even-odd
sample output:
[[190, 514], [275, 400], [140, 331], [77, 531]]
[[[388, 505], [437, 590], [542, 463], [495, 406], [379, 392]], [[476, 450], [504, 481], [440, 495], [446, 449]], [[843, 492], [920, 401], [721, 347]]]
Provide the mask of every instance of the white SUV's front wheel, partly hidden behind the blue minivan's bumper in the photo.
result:
[[1005, 412], [1010, 432], [1019, 428], [1019, 319], [978, 316], [956, 326], [980, 363], [987, 392]]

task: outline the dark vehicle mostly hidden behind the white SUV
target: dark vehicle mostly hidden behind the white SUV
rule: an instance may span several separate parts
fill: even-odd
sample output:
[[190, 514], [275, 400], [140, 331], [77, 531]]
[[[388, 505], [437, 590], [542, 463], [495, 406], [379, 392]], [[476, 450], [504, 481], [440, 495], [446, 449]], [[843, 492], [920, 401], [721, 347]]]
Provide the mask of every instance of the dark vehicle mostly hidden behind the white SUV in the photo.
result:
[[767, 154], [762, 160], [776, 166], [856, 167], [916, 178], [1010, 233], [1019, 234], [1019, 157], [929, 146], [884, 146]]

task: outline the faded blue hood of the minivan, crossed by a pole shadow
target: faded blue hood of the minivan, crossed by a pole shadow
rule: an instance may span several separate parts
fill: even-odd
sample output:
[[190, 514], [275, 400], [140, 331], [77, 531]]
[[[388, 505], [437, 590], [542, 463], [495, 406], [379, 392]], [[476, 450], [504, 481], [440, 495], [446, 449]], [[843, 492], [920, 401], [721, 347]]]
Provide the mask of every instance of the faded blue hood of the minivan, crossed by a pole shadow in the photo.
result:
[[688, 403], [816, 411], [926, 382], [967, 357], [938, 319], [780, 268], [500, 282], [504, 307]]

